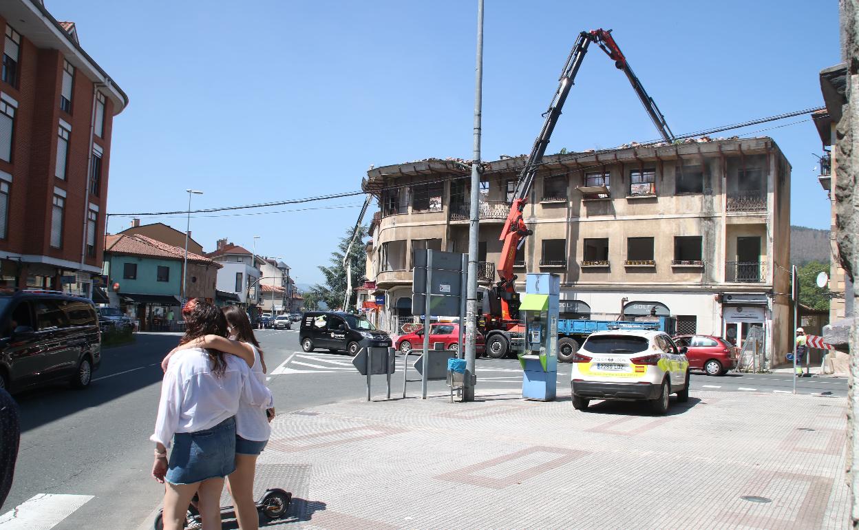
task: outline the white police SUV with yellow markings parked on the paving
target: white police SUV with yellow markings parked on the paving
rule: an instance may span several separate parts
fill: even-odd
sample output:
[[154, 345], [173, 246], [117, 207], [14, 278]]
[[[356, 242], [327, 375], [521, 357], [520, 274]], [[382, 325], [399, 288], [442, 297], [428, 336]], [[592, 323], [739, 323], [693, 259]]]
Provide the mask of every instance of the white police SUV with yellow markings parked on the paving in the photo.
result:
[[689, 400], [689, 361], [665, 332], [595, 332], [572, 358], [573, 406], [583, 411], [591, 399], [649, 400], [668, 410], [668, 395]]

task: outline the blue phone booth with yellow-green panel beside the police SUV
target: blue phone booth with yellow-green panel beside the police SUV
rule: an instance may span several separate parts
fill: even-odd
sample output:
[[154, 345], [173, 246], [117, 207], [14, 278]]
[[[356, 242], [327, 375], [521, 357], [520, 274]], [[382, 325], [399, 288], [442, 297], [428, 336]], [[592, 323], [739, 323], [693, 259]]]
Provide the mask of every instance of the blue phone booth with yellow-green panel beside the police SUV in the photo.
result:
[[525, 280], [519, 311], [525, 320], [525, 351], [519, 356], [524, 372], [522, 397], [551, 401], [557, 390], [557, 319], [561, 277], [533, 273]]

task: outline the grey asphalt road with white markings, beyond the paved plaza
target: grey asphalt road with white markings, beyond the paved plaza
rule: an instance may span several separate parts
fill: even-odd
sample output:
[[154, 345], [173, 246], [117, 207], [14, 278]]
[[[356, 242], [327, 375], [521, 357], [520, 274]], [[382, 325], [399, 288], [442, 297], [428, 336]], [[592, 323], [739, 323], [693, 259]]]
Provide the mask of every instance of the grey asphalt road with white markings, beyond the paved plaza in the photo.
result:
[[[304, 353], [297, 331], [264, 330], [258, 338], [269, 369], [268, 385], [277, 414], [360, 399], [365, 379], [342, 354]], [[137, 334], [135, 344], [107, 349], [92, 385], [83, 391], [48, 387], [17, 394], [22, 435], [15, 482], [0, 513], [34, 496], [32, 505], [54, 517], [57, 530], [136, 528], [160, 502], [162, 486], [149, 477], [152, 442], [160, 392], [161, 358], [179, 341], [177, 335]], [[410, 364], [414, 359], [410, 356]], [[393, 376], [393, 395], [402, 395], [402, 357]], [[478, 387], [520, 387], [521, 369], [515, 359], [480, 359]], [[558, 394], [569, 393], [570, 365], [558, 367]], [[417, 396], [420, 383], [411, 371], [408, 394]], [[374, 378], [374, 399], [383, 399], [385, 379]], [[691, 392], [789, 393], [791, 375], [694, 374]], [[430, 383], [430, 392], [446, 392], [443, 381]], [[804, 378], [797, 391], [845, 396], [846, 379]], [[27, 506], [29, 506], [28, 504]], [[0, 515], [3, 521], [3, 515]], [[5, 530], [30, 528], [0, 525]], [[41, 526], [50, 528], [50, 526]]]

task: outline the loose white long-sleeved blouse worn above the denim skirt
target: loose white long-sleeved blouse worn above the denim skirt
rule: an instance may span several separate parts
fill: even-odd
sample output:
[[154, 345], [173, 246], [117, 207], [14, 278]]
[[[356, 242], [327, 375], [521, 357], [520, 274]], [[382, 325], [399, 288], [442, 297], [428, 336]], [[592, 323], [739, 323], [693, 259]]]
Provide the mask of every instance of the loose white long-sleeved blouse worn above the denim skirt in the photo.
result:
[[251, 375], [247, 362], [224, 355], [227, 369], [216, 377], [204, 350], [177, 351], [161, 381], [155, 432], [149, 436], [169, 448], [174, 433], [211, 429], [239, 410], [239, 400], [260, 409], [274, 405], [271, 392]]

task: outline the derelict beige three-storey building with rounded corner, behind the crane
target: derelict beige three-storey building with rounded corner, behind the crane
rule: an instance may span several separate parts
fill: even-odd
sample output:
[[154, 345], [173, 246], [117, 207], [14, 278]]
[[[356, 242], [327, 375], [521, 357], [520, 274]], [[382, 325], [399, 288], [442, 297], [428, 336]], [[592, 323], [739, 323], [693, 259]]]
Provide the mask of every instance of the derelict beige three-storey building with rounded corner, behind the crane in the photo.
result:
[[[481, 290], [498, 280], [499, 236], [524, 162], [483, 163]], [[545, 155], [523, 212], [533, 235], [515, 257], [517, 289], [527, 272], [557, 273], [562, 319], [670, 315], [679, 334], [742, 347], [751, 333], [761, 361], [776, 366], [791, 349], [790, 171], [769, 137]], [[388, 331], [414, 318], [416, 251], [467, 253], [470, 174], [467, 161], [429, 159], [372, 168], [363, 180], [381, 210], [370, 224], [366, 296]]]

